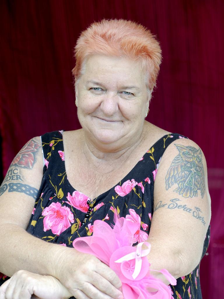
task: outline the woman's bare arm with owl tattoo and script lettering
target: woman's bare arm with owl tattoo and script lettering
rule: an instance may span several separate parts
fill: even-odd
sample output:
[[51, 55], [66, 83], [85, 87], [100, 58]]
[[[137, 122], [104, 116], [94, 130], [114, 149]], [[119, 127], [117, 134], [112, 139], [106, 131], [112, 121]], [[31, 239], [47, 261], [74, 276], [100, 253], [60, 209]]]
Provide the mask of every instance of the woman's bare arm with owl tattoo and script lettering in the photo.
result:
[[[175, 278], [200, 263], [211, 219], [207, 166], [200, 147], [190, 139], [172, 142], [158, 166], [154, 213], [148, 242], [150, 269], [167, 269]], [[162, 274], [151, 272], [167, 285]]]

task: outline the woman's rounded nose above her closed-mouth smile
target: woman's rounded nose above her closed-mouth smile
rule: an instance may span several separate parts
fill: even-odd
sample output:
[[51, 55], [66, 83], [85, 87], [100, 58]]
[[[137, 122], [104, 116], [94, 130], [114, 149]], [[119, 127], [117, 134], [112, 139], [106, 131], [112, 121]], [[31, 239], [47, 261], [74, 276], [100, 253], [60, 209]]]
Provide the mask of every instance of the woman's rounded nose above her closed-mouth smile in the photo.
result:
[[113, 92], [107, 92], [102, 98], [100, 109], [105, 115], [111, 116], [118, 111], [118, 96]]

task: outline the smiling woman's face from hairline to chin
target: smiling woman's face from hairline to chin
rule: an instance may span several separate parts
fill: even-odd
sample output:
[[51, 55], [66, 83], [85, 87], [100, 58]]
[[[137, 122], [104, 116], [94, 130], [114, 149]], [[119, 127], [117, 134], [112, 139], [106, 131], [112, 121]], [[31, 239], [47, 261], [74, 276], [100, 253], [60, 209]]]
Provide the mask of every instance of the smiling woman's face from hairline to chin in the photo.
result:
[[141, 135], [150, 100], [144, 75], [139, 62], [127, 58], [88, 57], [76, 100], [79, 122], [95, 142], [122, 144]]

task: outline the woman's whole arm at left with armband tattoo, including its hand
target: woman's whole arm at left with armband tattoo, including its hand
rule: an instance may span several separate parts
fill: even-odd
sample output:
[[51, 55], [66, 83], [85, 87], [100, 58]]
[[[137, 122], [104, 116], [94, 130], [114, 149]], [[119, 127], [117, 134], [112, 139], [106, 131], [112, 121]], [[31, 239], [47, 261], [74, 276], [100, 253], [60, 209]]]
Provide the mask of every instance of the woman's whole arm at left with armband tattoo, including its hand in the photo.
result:
[[16, 155], [0, 187], [0, 272], [51, 275], [77, 299], [122, 295], [115, 272], [96, 257], [27, 233], [42, 176], [42, 145], [35, 137]]

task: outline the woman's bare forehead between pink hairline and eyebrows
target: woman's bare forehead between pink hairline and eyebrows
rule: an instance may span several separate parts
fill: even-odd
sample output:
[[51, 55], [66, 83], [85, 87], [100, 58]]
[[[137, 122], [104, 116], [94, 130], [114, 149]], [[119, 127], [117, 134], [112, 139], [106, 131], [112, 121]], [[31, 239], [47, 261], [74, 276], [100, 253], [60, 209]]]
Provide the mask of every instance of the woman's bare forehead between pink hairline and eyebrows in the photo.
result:
[[141, 63], [126, 57], [117, 58], [94, 54], [88, 57], [83, 74], [84, 82], [103, 80], [108, 83], [144, 85], [145, 72]]

